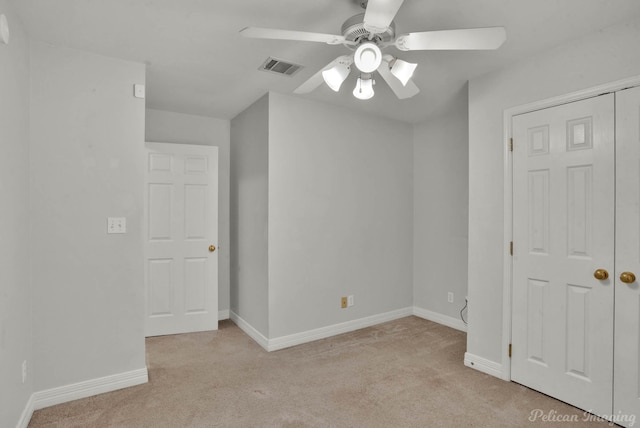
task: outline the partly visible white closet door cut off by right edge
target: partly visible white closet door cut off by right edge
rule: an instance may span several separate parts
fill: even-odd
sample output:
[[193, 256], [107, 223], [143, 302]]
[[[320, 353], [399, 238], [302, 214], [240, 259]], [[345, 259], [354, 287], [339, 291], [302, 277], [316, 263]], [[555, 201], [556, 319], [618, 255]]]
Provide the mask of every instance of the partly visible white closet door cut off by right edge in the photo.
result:
[[619, 425], [631, 426], [631, 416], [640, 417], [640, 286], [625, 272], [640, 277], [640, 88], [616, 93], [613, 415]]

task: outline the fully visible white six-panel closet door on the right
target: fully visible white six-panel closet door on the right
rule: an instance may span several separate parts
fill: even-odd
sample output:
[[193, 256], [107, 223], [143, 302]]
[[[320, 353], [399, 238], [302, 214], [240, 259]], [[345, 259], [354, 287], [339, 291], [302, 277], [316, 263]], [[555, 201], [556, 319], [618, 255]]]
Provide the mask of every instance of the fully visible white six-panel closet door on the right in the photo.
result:
[[511, 378], [610, 415], [614, 95], [516, 116], [513, 138]]

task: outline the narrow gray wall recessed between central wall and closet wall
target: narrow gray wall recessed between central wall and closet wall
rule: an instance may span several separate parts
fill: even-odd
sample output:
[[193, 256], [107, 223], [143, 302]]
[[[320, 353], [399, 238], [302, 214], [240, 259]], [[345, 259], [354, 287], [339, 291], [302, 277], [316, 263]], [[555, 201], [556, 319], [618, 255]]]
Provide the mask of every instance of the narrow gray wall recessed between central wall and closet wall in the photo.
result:
[[416, 125], [413, 137], [413, 305], [456, 319], [467, 294], [467, 94], [465, 85], [446, 111]]

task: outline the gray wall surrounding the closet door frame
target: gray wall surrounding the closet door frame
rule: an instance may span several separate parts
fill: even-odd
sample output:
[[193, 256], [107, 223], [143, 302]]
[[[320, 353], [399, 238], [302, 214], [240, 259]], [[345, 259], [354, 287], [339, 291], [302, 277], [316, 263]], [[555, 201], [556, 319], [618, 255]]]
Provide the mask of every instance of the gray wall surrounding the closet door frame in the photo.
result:
[[609, 27], [469, 83], [467, 352], [500, 364], [504, 236], [503, 111], [640, 75], [640, 20]]

